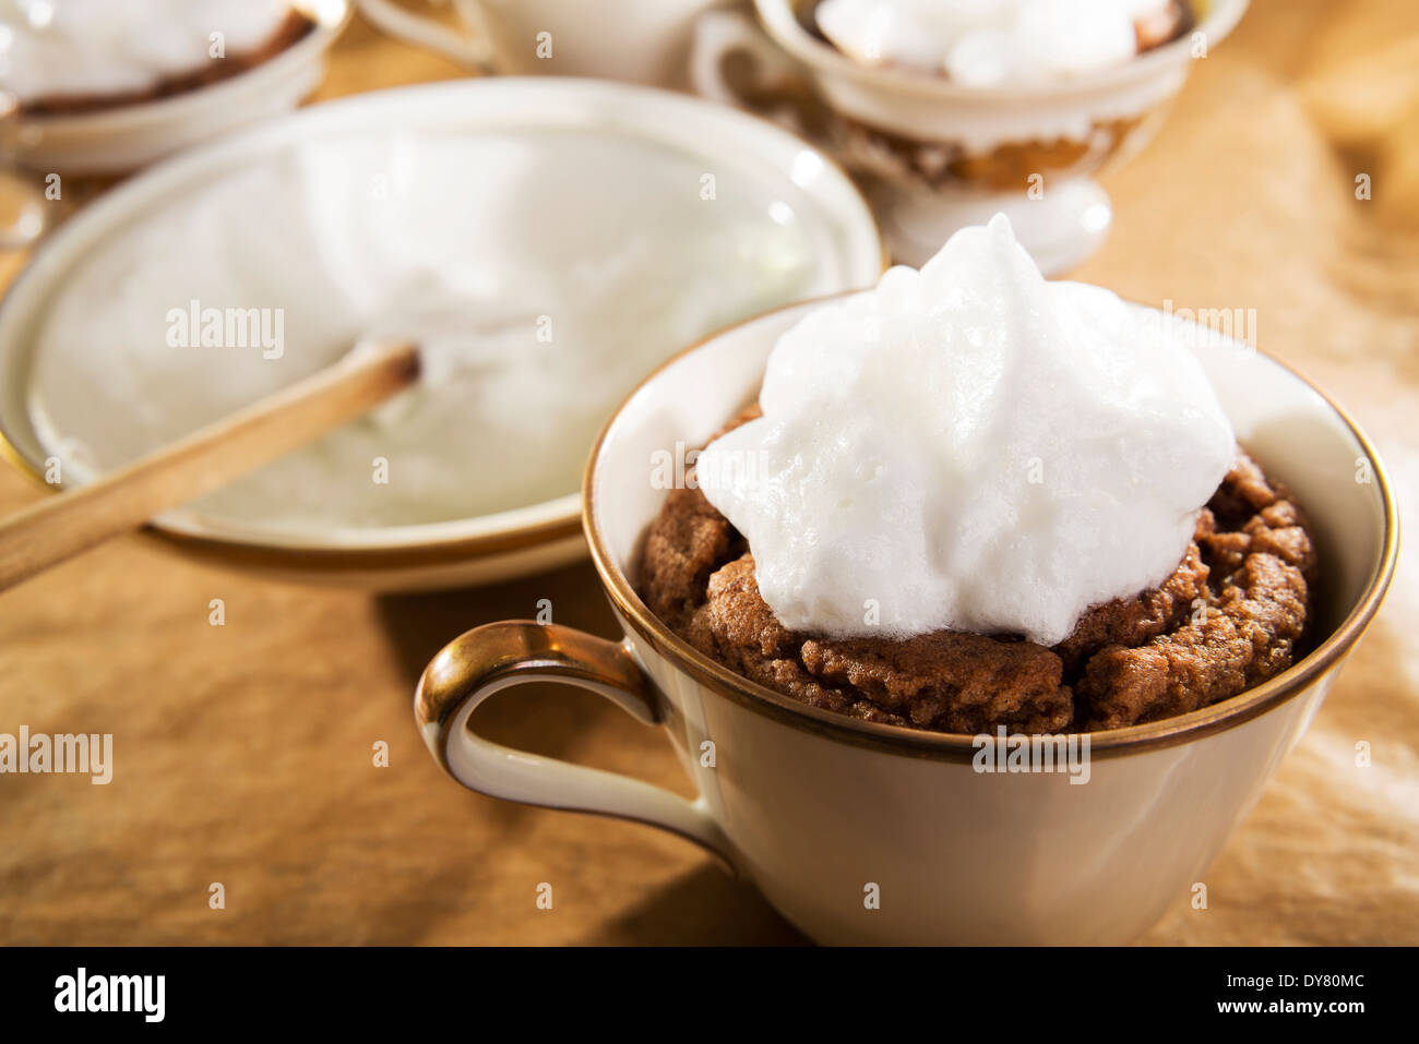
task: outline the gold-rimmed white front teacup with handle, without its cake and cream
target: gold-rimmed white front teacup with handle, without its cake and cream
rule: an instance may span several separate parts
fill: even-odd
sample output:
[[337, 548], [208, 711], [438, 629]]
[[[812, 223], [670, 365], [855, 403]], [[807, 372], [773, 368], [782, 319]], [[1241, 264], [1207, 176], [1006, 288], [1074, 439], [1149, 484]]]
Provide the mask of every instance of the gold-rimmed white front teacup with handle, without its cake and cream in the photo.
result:
[[[820, 942], [1135, 939], [1186, 899], [1378, 610], [1398, 550], [1384, 468], [1341, 409], [1286, 366], [1220, 338], [1200, 343], [1239, 440], [1310, 513], [1321, 555], [1315, 648], [1213, 706], [1086, 733], [1084, 772], [981, 773], [971, 736], [861, 722], [738, 677], [634, 590], [634, 556], [664, 498], [654, 454], [701, 445], [752, 401], [775, 339], [809, 308], [680, 355], [612, 417], [587, 465], [583, 525], [624, 640], [529, 621], [468, 631], [419, 685], [430, 750], [473, 790], [688, 837]], [[509, 750], [470, 726], [494, 692], [549, 678], [663, 726], [700, 797]]]

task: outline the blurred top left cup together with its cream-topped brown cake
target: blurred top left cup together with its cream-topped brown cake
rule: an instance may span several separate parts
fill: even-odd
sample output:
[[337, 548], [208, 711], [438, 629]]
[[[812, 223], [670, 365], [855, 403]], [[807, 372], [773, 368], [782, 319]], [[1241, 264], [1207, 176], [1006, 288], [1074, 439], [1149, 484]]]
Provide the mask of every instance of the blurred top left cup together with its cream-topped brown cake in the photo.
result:
[[295, 105], [325, 75], [349, 0], [9, 0], [9, 159], [122, 174]]

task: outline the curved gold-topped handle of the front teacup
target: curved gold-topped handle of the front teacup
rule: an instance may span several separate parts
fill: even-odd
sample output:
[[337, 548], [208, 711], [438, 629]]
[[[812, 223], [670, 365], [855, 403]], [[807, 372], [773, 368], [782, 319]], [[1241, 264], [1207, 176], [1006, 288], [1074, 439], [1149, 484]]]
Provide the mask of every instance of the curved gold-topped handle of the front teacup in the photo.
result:
[[630, 776], [514, 750], [474, 732], [468, 718], [478, 704], [529, 681], [565, 681], [647, 725], [663, 721], [656, 689], [626, 645], [558, 624], [505, 620], [461, 634], [424, 668], [414, 719], [434, 760], [480, 794], [646, 823], [704, 845], [734, 870], [731, 845], [702, 797], [687, 801]]

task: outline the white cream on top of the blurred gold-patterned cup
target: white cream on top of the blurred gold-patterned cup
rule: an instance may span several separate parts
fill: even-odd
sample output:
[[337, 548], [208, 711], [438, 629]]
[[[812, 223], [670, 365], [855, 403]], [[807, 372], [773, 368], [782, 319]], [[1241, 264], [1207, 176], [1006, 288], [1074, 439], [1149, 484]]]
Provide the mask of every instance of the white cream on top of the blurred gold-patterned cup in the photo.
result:
[[1039, 82], [1120, 65], [1168, 0], [823, 0], [817, 24], [864, 64], [945, 72], [966, 87]]

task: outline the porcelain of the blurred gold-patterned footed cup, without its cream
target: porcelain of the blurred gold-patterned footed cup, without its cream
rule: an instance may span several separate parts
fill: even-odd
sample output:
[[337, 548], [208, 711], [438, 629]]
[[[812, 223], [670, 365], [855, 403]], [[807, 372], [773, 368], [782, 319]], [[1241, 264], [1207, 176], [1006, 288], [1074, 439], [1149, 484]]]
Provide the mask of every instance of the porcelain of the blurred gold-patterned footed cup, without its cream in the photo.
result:
[[853, 61], [810, 31], [815, 0], [753, 0], [697, 26], [695, 89], [789, 118], [867, 190], [895, 260], [921, 265], [952, 231], [1005, 211], [1059, 274], [1094, 252], [1112, 210], [1093, 180], [1156, 130], [1195, 57], [1247, 0], [1193, 0], [1196, 26], [1107, 70], [1050, 84], [971, 88]]

